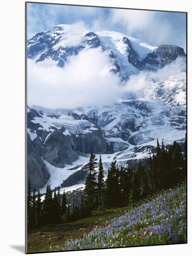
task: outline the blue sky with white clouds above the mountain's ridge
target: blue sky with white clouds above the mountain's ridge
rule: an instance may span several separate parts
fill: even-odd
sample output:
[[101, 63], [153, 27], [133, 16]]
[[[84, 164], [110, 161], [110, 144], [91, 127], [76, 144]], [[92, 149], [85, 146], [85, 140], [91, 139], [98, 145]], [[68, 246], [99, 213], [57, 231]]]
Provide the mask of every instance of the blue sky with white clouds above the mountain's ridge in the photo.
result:
[[178, 45], [186, 51], [186, 13], [169, 13], [100, 7], [27, 4], [28, 39], [58, 24], [83, 21], [94, 30], [114, 30], [150, 45]]

